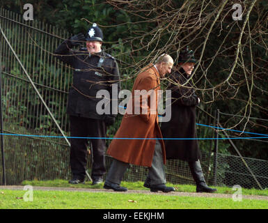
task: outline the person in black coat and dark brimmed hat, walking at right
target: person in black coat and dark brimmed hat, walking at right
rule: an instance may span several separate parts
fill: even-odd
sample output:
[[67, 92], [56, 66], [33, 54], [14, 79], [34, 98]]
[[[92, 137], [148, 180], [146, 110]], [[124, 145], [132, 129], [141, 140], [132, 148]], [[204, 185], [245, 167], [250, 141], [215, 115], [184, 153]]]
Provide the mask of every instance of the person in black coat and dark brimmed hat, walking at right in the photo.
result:
[[191, 174], [196, 182], [196, 192], [216, 192], [216, 189], [208, 187], [205, 183], [200, 165], [198, 141], [189, 139], [197, 137], [196, 106], [200, 103], [191, 82], [187, 82], [195, 63], [194, 52], [189, 51], [189, 47], [182, 49], [178, 66], [171, 72], [168, 84], [172, 97], [171, 121], [161, 123], [161, 132], [163, 138], [184, 138], [164, 140], [166, 159], [179, 159], [189, 163]]

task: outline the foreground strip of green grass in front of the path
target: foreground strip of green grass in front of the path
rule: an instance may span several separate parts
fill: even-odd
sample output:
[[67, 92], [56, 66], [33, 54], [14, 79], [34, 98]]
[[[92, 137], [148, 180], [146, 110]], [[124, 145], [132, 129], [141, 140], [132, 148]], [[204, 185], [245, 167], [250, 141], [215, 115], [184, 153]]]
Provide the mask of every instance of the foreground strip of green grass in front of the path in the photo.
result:
[[267, 209], [267, 201], [180, 197], [161, 194], [33, 191], [24, 201], [24, 190], [0, 190], [1, 209]]

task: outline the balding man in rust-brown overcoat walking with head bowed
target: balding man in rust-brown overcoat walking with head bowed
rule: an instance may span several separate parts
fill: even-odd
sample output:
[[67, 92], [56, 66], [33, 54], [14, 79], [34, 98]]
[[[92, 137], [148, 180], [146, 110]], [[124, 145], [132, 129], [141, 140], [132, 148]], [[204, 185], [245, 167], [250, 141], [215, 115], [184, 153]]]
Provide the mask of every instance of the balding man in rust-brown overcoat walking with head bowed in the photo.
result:
[[152, 192], [175, 190], [165, 185], [166, 152], [157, 116], [160, 78], [170, 73], [172, 66], [171, 56], [162, 54], [155, 65], [149, 64], [136, 77], [126, 114], [107, 151], [113, 162], [104, 183], [105, 189], [127, 191], [120, 187], [120, 182], [129, 164], [136, 164], [149, 167], [144, 186]]

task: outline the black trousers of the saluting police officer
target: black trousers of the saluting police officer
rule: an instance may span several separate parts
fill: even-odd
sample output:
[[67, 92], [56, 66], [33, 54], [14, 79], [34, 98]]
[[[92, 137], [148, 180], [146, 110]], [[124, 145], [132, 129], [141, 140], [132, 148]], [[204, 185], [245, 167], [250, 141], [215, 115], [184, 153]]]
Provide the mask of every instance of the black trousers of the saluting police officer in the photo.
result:
[[[91, 141], [93, 156], [93, 168], [91, 178], [102, 178], [105, 174], [105, 139], [106, 125], [104, 121], [83, 118], [78, 116], [70, 116], [70, 166], [72, 177], [83, 180], [86, 176], [86, 157], [88, 141]], [[95, 137], [97, 139], [76, 139], [75, 137]]]

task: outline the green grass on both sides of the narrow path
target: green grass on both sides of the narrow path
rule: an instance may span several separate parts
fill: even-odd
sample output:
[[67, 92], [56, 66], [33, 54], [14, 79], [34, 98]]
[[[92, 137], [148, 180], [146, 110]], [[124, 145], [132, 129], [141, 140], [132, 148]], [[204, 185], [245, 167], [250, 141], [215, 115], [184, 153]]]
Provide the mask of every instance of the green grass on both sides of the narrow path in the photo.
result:
[[[68, 192], [40, 191], [34, 186], [42, 187], [74, 187], [102, 189], [100, 185], [90, 182], [71, 185], [67, 180], [25, 180], [22, 185], [33, 186], [33, 201], [24, 201], [25, 190], [0, 190], [0, 209], [267, 209], [267, 201], [231, 198], [182, 197], [169, 194], [135, 194], [107, 192]], [[149, 190], [143, 182], [122, 182], [129, 190]], [[177, 192], [195, 192], [194, 185], [172, 185]], [[221, 194], [233, 194], [230, 187], [216, 187]], [[268, 196], [267, 190], [242, 189], [243, 195]]]

